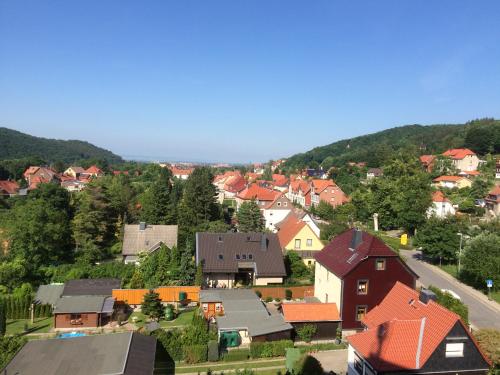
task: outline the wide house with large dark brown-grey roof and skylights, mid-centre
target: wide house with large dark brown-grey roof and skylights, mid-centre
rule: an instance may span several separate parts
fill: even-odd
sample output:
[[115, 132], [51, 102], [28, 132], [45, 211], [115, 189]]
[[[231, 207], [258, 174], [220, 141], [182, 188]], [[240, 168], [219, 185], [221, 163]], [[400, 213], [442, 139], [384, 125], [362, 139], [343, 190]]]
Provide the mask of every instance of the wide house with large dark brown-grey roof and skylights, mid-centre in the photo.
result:
[[209, 287], [281, 284], [286, 276], [274, 233], [196, 233], [196, 265]]

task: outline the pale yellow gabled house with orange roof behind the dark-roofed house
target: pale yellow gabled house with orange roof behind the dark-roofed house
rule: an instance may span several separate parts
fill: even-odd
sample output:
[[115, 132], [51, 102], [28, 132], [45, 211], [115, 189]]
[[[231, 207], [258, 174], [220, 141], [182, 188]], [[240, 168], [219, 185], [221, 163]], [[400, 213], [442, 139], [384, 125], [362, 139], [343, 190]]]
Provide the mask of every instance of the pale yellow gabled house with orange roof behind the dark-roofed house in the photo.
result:
[[311, 227], [293, 214], [279, 224], [278, 238], [284, 253], [295, 251], [308, 266], [314, 264], [314, 255], [324, 247]]

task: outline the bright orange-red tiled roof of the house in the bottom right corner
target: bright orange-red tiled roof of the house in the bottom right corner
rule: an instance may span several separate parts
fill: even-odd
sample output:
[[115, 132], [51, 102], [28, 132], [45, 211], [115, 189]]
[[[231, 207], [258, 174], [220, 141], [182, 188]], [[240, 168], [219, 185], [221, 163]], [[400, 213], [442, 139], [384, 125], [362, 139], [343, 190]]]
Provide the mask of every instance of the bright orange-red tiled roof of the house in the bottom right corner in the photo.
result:
[[348, 341], [378, 371], [419, 369], [457, 322], [455, 313], [434, 301], [420, 302], [416, 290], [396, 282], [363, 319], [368, 329]]

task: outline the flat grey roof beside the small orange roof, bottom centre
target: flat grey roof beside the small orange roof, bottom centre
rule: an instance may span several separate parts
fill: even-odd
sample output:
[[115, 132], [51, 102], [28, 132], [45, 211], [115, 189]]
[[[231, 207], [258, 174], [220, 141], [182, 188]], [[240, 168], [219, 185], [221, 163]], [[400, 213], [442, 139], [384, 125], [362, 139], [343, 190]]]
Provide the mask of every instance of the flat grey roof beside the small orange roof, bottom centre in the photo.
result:
[[200, 291], [200, 302], [222, 302], [224, 316], [216, 317], [221, 331], [247, 330], [252, 337], [291, 330], [283, 315], [270, 315], [250, 289], [208, 289]]

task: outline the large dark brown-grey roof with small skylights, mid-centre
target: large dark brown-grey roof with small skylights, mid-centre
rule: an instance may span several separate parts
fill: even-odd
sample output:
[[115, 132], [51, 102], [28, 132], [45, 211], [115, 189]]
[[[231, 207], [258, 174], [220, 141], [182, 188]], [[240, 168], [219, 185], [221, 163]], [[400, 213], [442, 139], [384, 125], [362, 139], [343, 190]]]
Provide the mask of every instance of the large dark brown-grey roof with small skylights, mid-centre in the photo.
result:
[[257, 277], [286, 276], [275, 233], [196, 233], [196, 263], [199, 262], [204, 272], [233, 273], [238, 272], [239, 265], [247, 267], [251, 263]]

